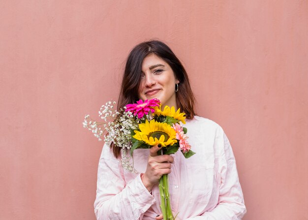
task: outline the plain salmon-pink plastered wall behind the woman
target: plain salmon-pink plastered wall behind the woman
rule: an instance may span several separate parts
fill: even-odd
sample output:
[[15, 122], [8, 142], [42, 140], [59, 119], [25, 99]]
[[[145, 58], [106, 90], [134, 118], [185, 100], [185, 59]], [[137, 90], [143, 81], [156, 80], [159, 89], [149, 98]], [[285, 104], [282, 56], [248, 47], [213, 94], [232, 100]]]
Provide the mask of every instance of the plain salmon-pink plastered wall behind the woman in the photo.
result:
[[0, 31], [1, 220], [95, 219], [102, 143], [83, 117], [153, 37], [231, 141], [244, 220], [308, 219], [307, 0], [7, 0]]

